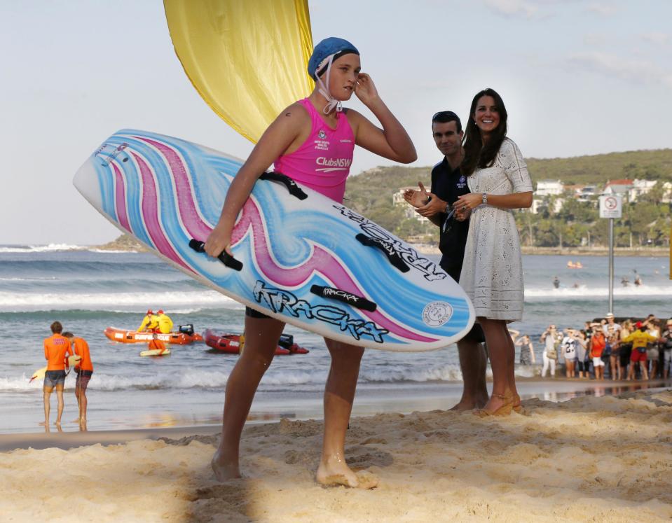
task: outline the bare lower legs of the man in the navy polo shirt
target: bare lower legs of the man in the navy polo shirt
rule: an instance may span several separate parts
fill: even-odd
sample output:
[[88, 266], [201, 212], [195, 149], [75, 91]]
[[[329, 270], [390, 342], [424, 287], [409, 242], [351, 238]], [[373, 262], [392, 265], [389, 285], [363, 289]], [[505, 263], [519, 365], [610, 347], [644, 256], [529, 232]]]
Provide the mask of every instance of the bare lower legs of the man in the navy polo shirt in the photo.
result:
[[458, 342], [458, 354], [464, 389], [460, 402], [451, 410], [472, 410], [476, 407], [483, 407], [488, 401], [486, 386], [488, 356], [483, 344], [462, 339]]

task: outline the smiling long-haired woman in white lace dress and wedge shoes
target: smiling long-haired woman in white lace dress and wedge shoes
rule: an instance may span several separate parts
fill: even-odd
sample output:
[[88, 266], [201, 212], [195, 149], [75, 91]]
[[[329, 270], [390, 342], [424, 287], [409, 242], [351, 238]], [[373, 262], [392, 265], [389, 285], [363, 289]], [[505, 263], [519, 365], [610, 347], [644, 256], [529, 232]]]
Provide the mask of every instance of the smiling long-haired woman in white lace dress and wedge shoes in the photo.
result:
[[460, 285], [474, 303], [486, 335], [493, 393], [476, 413], [520, 409], [514, 375], [515, 348], [507, 323], [523, 316], [521, 246], [512, 209], [532, 205], [532, 182], [518, 146], [506, 137], [507, 111], [492, 89], [477, 93], [469, 111], [462, 172], [470, 194], [455, 202], [456, 218], [469, 218]]

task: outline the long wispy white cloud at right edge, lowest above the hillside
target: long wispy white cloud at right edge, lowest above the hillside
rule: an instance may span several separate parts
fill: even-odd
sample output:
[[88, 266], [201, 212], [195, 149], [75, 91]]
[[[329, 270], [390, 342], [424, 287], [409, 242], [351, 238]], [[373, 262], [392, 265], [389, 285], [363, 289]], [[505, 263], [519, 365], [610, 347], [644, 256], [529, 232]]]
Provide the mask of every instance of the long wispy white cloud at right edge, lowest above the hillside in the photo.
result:
[[672, 88], [672, 74], [668, 74], [666, 69], [652, 62], [625, 60], [616, 55], [597, 51], [575, 53], [569, 57], [568, 62], [574, 67], [597, 72], [609, 78]]

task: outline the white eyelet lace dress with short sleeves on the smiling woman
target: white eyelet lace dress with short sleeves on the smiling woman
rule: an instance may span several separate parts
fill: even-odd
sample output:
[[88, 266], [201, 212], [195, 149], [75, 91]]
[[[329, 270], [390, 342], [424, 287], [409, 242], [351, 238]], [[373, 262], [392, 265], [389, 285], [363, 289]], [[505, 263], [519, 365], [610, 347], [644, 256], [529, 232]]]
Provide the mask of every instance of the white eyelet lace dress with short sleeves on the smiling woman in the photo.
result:
[[[472, 193], [507, 195], [532, 190], [521, 151], [505, 138], [492, 167], [467, 177]], [[521, 242], [510, 209], [480, 205], [469, 218], [469, 236], [460, 285], [474, 303], [476, 316], [520, 321], [523, 318]]]

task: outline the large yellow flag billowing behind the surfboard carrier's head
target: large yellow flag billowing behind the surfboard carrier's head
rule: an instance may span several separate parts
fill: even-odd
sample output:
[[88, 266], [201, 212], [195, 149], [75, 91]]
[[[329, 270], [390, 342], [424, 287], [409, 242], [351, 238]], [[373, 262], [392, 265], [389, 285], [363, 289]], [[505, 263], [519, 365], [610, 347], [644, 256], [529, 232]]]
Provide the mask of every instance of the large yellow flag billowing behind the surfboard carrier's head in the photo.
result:
[[313, 90], [308, 0], [164, 0], [175, 53], [212, 110], [256, 142]]

